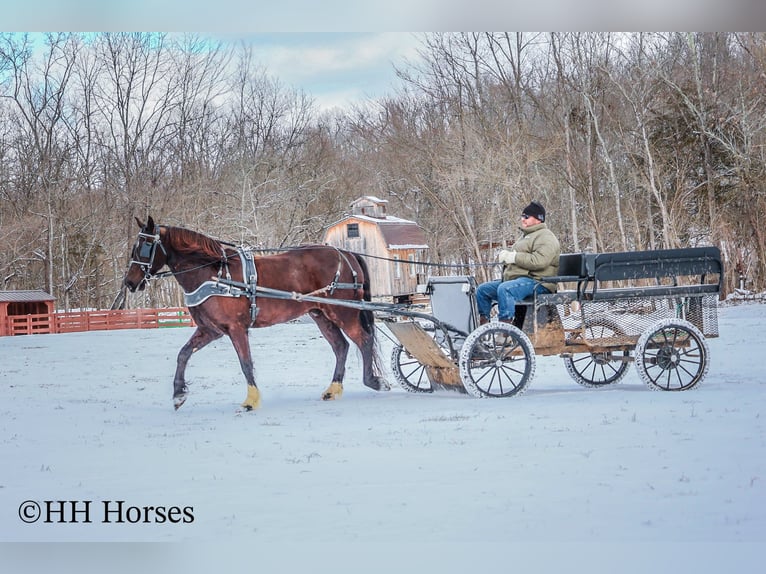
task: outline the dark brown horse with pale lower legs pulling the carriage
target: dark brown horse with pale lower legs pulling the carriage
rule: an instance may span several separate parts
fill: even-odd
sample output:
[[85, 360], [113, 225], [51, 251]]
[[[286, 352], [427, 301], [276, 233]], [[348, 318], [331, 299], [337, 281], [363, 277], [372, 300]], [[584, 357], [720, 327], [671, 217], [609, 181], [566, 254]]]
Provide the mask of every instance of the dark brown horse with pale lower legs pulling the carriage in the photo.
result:
[[[251, 301], [249, 294], [256, 281], [254, 277], [245, 277], [243, 267], [247, 269], [247, 266], [238, 250], [195, 231], [155, 225], [151, 217], [146, 224], [137, 218], [136, 222], [141, 231], [124, 279], [131, 292], [144, 289], [149, 279], [166, 274], [173, 275], [187, 295], [199, 293], [200, 286], [204, 290], [213, 283], [234, 286], [234, 295], [216, 292], [200, 302], [188, 302], [197, 330], [178, 353], [173, 380], [176, 409], [188, 394], [184, 373], [192, 353], [222, 335], [231, 339], [247, 380], [247, 397], [242, 406], [246, 410], [257, 408], [260, 392], [253, 374], [248, 329], [284, 323], [306, 313], [316, 322], [335, 353], [332, 382], [322, 399], [337, 399], [343, 393], [349, 348], [344, 333], [362, 353], [364, 384], [374, 390], [390, 388], [379, 376], [372, 311], [362, 308], [364, 304], [343, 305], [349, 301], [370, 300], [367, 265], [358, 255], [326, 245], [314, 245], [289, 249], [277, 255], [254, 256], [257, 292], [267, 295]], [[165, 265], [170, 272], [160, 274]], [[209, 283], [203, 285], [206, 282]], [[292, 296], [285, 298], [282, 297], [284, 294]], [[302, 300], [301, 295], [308, 295], [311, 301]], [[324, 303], [324, 300], [328, 302]], [[333, 300], [338, 303], [333, 304]]]

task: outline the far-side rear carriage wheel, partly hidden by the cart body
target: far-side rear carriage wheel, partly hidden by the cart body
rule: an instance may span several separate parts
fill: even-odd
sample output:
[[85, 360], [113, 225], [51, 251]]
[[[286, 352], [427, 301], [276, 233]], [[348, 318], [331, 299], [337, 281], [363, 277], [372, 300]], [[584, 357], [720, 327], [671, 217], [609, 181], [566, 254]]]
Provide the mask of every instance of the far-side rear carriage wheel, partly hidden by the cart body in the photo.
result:
[[[587, 339], [604, 339], [624, 335], [613, 321], [593, 319], [585, 322]], [[576, 383], [584, 387], [605, 387], [619, 383], [628, 374], [630, 351], [580, 353], [564, 357], [564, 366]]]

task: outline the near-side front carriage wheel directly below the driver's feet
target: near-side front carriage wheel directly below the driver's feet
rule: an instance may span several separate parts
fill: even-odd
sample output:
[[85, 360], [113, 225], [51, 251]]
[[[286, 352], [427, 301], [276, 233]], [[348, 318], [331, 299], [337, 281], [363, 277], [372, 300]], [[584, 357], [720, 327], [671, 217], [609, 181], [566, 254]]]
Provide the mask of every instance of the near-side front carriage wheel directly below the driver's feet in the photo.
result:
[[535, 374], [532, 342], [507, 323], [487, 323], [466, 337], [460, 350], [460, 379], [475, 397], [523, 393]]

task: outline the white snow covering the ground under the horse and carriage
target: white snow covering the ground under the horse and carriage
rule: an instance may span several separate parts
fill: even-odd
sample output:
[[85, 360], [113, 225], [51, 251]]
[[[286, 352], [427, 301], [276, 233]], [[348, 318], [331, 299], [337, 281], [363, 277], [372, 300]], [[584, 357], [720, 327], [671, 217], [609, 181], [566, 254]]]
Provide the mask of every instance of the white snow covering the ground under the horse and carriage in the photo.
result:
[[[0, 540], [185, 544], [146, 555], [6, 544], [0, 567], [36, 571], [30, 554], [55, 566], [75, 552], [130, 572], [147, 560], [208, 572], [540, 572], [573, 560], [754, 571], [766, 539], [765, 322], [766, 305], [722, 307], [710, 371], [687, 392], [652, 392], [633, 367], [619, 385], [588, 389], [559, 357], [538, 357], [520, 397], [376, 393], [352, 352], [336, 402], [319, 400], [334, 359], [317, 328], [279, 325], [251, 331], [263, 400], [253, 413], [239, 409], [245, 383], [228, 340], [192, 357], [191, 393], [173, 410], [190, 328], [4, 337]], [[391, 343], [381, 348], [387, 364]], [[47, 500], [91, 501], [91, 522], [19, 518], [23, 502]], [[104, 523], [119, 500], [141, 520]], [[154, 523], [149, 506], [193, 521]], [[222, 548], [209, 555], [210, 544]]]

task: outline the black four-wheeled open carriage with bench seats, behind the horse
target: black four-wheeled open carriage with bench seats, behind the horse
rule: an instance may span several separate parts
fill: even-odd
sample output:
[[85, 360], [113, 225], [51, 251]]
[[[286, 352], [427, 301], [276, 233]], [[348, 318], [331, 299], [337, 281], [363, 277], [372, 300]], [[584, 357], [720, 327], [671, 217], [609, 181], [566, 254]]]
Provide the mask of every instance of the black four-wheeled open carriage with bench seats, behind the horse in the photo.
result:
[[414, 393], [515, 396], [533, 380], [537, 355], [561, 356], [586, 387], [619, 382], [630, 363], [653, 390], [692, 389], [704, 379], [706, 337], [718, 336], [717, 248], [565, 254], [558, 271], [544, 281], [569, 289], [518, 302], [513, 324], [481, 326], [473, 277], [429, 278], [432, 317], [402, 321], [403, 311], [387, 321], [398, 383]]

